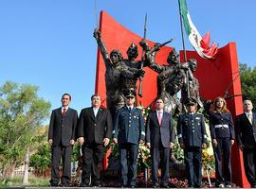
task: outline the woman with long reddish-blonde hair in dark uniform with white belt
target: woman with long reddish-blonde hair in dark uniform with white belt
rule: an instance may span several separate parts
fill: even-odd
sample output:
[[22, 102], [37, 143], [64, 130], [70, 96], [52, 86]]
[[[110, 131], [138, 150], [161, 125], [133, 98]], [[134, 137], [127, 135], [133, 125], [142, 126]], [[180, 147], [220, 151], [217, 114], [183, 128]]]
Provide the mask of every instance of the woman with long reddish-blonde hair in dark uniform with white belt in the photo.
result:
[[[235, 134], [226, 100], [218, 96], [210, 107], [210, 136], [215, 158], [216, 187], [231, 188], [231, 146]], [[224, 166], [224, 167], [222, 167]]]

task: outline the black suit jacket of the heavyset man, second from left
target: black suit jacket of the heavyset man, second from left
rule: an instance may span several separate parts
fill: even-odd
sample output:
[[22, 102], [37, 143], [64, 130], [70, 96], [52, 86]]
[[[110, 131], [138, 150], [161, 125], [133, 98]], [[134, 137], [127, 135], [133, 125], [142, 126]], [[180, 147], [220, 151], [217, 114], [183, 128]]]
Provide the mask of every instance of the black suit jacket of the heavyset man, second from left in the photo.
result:
[[103, 144], [104, 138], [111, 139], [113, 122], [108, 110], [100, 108], [96, 117], [93, 108], [82, 109], [79, 116], [78, 137], [84, 138], [84, 143]]

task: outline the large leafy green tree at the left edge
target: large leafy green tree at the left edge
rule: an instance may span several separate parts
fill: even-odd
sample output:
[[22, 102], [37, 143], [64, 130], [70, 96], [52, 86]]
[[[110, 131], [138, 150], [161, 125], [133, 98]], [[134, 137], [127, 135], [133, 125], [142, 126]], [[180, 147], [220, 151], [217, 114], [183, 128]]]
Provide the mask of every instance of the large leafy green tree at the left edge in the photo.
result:
[[24, 163], [36, 142], [50, 103], [37, 95], [38, 87], [7, 81], [0, 87], [0, 167], [4, 175]]

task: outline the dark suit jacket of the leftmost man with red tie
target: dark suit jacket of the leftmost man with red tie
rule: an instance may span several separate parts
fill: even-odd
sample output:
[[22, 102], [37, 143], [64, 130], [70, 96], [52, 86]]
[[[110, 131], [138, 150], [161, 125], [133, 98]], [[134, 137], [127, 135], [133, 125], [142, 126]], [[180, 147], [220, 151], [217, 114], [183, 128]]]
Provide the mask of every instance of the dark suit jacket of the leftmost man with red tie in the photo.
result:
[[78, 112], [68, 108], [64, 117], [62, 108], [51, 112], [48, 139], [53, 140], [53, 146], [69, 146], [70, 140], [76, 140]]

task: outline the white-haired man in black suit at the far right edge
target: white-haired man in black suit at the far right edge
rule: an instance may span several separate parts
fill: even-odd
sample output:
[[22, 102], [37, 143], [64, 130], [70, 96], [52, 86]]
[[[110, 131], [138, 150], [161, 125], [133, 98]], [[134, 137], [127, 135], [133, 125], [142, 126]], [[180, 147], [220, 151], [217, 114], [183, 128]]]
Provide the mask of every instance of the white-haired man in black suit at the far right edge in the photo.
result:
[[235, 121], [237, 145], [243, 151], [245, 172], [251, 188], [256, 188], [256, 113], [250, 100], [244, 101], [244, 113]]

